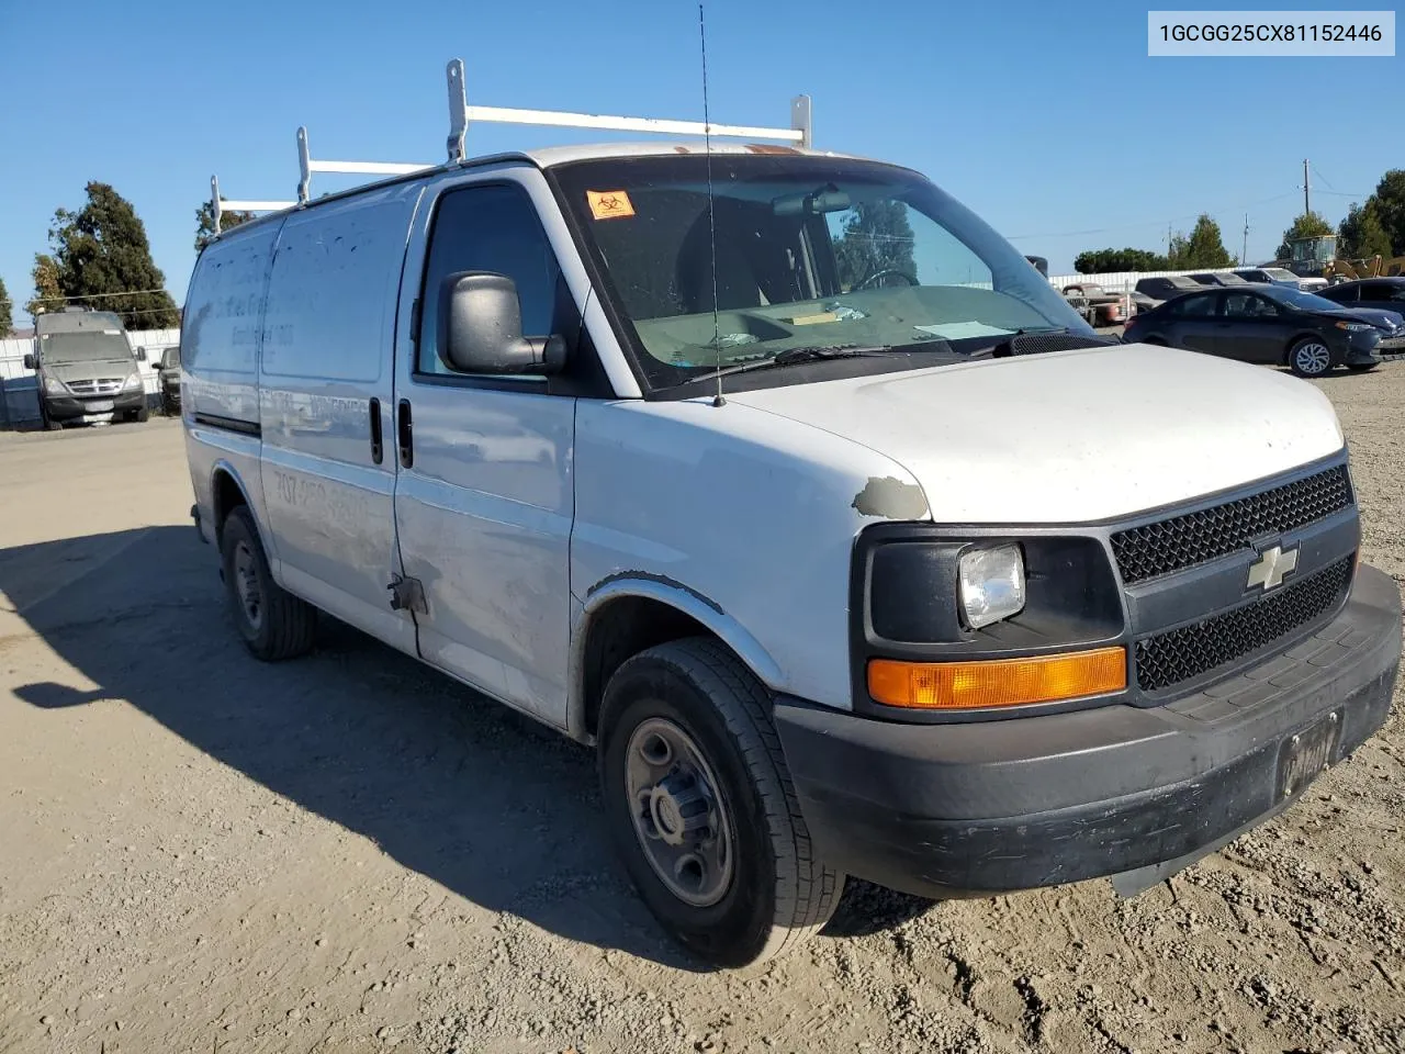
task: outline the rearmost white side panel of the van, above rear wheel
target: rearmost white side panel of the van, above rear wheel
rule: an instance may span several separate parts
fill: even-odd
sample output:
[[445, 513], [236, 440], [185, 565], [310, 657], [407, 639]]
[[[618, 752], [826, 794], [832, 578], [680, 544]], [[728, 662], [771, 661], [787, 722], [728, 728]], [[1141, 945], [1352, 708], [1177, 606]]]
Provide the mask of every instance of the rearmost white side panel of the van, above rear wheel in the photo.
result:
[[216, 468], [228, 471], [240, 482], [275, 569], [278, 551], [259, 485], [256, 363], [278, 228], [277, 222], [256, 223], [209, 245], [191, 274], [181, 323], [181, 416], [201, 530], [215, 541], [219, 524], [211, 483]]

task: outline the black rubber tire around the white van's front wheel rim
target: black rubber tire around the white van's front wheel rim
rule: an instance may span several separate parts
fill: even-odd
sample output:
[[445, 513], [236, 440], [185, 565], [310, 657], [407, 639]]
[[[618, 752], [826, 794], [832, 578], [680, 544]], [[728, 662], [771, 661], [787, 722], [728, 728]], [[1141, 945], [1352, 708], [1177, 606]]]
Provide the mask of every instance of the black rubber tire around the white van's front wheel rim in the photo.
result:
[[[721, 967], [798, 947], [829, 920], [844, 888], [844, 876], [813, 853], [770, 710], [766, 687], [726, 648], [702, 637], [628, 659], [610, 679], [601, 708], [606, 819], [629, 877], [670, 936]], [[698, 748], [729, 824], [731, 877], [719, 899], [704, 906], [660, 880], [631, 802], [631, 739], [645, 722], [653, 728], [660, 721]]]

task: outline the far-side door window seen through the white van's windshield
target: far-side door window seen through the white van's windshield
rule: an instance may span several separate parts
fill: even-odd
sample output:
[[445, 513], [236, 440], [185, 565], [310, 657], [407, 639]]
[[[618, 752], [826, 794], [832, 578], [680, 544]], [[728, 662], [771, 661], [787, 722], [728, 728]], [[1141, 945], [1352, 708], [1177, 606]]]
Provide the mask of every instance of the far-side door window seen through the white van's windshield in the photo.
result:
[[858, 201], [825, 215], [839, 288], [971, 285], [989, 289], [991, 268], [950, 230], [903, 201]]

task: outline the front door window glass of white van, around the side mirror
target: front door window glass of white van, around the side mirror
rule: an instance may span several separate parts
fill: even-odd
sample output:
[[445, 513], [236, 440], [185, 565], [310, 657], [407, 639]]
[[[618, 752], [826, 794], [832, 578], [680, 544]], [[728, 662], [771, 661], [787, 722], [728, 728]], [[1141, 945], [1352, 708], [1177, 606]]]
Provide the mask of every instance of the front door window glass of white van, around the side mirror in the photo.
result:
[[561, 267], [527, 193], [510, 184], [451, 190], [438, 200], [430, 229], [416, 372], [462, 377], [438, 357], [440, 287], [458, 271], [511, 278], [521, 301], [523, 336], [544, 337], [559, 330]]

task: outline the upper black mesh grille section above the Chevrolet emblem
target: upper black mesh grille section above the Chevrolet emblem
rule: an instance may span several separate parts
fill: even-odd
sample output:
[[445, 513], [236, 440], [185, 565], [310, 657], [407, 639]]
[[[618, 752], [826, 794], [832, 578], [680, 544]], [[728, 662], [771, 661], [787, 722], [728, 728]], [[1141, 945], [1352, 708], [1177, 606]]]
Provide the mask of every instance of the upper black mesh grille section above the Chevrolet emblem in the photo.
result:
[[1142, 582], [1246, 548], [1253, 538], [1305, 527], [1350, 503], [1346, 465], [1333, 465], [1248, 497], [1118, 531], [1113, 557], [1123, 582]]

